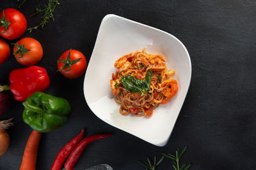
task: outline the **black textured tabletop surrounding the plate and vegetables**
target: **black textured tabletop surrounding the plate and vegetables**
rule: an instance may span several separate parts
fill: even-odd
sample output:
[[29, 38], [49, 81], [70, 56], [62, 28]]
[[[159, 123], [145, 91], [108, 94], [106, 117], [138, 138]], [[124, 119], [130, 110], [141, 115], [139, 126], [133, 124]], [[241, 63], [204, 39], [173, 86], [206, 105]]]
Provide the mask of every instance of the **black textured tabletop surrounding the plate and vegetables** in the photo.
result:
[[[40, 15], [29, 15], [46, 3], [47, 0], [27, 0], [19, 8], [28, 26], [38, 24]], [[184, 146], [188, 146], [188, 151], [182, 162], [191, 163], [191, 169], [256, 168], [254, 0], [61, 0], [60, 3], [54, 22], [21, 37], [32, 37], [42, 43], [44, 57], [36, 65], [45, 67], [50, 75], [51, 86], [46, 92], [65, 97], [72, 105], [67, 124], [42, 135], [36, 169], [50, 169], [58, 151], [81, 128], [86, 129], [86, 136], [103, 132], [111, 132], [113, 136], [89, 145], [75, 169], [100, 163], [108, 163], [113, 169], [145, 169], [136, 160], [174, 153], [176, 148]], [[19, 4], [16, 0], [1, 0], [0, 10], [17, 8]], [[69, 48], [83, 52], [90, 60], [100, 22], [109, 13], [170, 32], [188, 49], [193, 70], [191, 85], [172, 136], [164, 147], [151, 145], [102, 122], [84, 100], [84, 75], [69, 80], [56, 71], [56, 60]], [[8, 74], [18, 67], [24, 66], [10, 56], [0, 66], [0, 82], [8, 83]], [[1, 170], [19, 169], [31, 132], [22, 120], [22, 110], [22, 104], [13, 101], [12, 108], [0, 117], [0, 120], [15, 118], [15, 126], [8, 130], [10, 147], [0, 157]], [[158, 169], [173, 169], [170, 159], [164, 159]]]

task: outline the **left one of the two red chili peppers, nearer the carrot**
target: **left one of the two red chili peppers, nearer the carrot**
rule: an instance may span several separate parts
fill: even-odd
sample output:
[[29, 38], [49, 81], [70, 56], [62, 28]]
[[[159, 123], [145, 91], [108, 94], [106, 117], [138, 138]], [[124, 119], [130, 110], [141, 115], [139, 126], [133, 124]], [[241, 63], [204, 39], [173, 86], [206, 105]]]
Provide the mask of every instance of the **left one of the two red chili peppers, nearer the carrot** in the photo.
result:
[[72, 139], [67, 145], [65, 145], [60, 152], [58, 153], [56, 159], [54, 160], [51, 170], [60, 170], [63, 162], [67, 159], [68, 155], [72, 150], [76, 147], [77, 143], [81, 141], [84, 137], [84, 129], [82, 129], [81, 133], [77, 135], [74, 139]]

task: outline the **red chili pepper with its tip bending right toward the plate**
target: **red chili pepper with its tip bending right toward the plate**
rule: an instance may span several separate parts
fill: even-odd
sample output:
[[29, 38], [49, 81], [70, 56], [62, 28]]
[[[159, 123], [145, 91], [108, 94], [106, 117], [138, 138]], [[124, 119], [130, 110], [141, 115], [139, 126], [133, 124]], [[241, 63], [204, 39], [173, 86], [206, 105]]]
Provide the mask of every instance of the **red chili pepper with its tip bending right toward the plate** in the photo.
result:
[[67, 162], [65, 163], [64, 167], [66, 170], [72, 170], [73, 167], [76, 165], [79, 157], [82, 155], [84, 148], [91, 142], [97, 141], [99, 139], [108, 138], [112, 134], [96, 134], [90, 136], [88, 138], [83, 139], [79, 144], [74, 148], [71, 154], [68, 157]]

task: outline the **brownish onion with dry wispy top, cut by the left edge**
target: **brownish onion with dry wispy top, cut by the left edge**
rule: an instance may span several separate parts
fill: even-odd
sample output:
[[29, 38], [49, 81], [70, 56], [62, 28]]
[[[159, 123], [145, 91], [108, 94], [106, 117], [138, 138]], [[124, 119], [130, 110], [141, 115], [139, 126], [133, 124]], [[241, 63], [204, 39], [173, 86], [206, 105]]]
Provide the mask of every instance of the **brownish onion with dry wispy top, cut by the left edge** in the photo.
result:
[[13, 123], [11, 122], [13, 118], [9, 120], [0, 121], [0, 157], [6, 152], [9, 147], [10, 138], [9, 134], [5, 131], [8, 129]]

